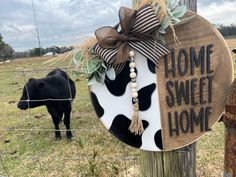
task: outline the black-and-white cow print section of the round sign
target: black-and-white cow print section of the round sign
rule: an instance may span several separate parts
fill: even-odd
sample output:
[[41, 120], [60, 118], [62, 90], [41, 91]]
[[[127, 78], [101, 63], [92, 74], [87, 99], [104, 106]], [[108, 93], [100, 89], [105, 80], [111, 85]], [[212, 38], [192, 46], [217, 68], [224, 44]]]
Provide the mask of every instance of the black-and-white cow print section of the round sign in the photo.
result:
[[144, 125], [141, 136], [132, 134], [128, 127], [133, 114], [129, 62], [114, 81], [90, 86], [96, 114], [103, 125], [124, 143], [148, 151], [162, 150], [160, 105], [155, 65], [135, 51], [138, 72], [139, 116]]

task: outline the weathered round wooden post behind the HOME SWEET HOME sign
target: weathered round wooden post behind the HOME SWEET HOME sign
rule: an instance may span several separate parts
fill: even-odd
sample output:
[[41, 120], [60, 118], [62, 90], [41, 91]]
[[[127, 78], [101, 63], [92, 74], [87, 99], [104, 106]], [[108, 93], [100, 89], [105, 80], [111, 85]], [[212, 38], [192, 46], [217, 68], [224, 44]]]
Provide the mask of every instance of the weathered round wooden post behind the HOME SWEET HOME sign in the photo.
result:
[[[133, 7], [136, 3], [137, 0], [133, 0]], [[197, 0], [180, 3], [197, 12]], [[143, 151], [142, 174], [145, 177], [196, 177], [196, 143], [171, 152]]]

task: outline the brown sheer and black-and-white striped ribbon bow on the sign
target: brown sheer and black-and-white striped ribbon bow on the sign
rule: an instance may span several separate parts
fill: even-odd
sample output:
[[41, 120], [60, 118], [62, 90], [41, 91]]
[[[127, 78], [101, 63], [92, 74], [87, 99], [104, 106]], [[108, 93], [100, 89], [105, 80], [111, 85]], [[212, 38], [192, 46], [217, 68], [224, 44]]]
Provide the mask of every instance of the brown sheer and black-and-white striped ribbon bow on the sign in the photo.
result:
[[135, 49], [158, 67], [159, 59], [169, 53], [169, 48], [156, 41], [155, 31], [160, 22], [151, 5], [138, 10], [121, 7], [120, 28], [101, 27], [95, 31], [97, 44], [94, 51], [118, 74], [129, 59], [130, 48]]

